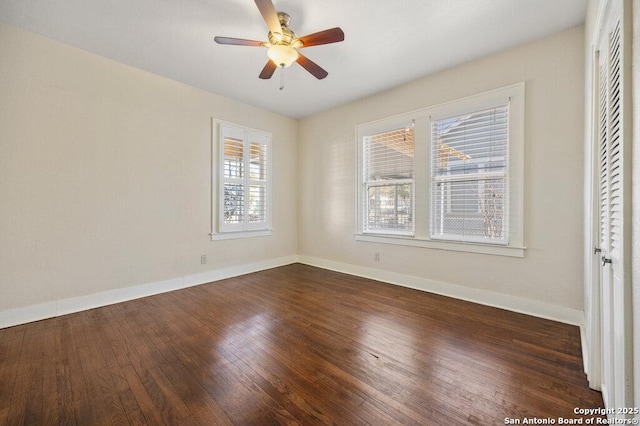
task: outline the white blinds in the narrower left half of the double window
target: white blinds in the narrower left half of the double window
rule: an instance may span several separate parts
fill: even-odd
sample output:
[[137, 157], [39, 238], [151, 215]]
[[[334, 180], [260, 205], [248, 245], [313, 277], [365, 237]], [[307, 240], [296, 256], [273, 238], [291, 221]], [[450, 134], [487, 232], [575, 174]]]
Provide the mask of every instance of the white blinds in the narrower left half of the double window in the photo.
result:
[[411, 123], [366, 135], [363, 149], [364, 232], [411, 235], [414, 129]]

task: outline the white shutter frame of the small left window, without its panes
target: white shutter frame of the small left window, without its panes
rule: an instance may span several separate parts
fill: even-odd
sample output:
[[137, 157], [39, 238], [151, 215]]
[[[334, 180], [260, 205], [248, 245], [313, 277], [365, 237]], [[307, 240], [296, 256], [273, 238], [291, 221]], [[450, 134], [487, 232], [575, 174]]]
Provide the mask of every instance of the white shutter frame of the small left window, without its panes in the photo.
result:
[[[272, 160], [271, 160], [271, 133], [261, 130], [251, 129], [233, 123], [221, 120], [213, 120], [213, 143], [212, 143], [212, 183], [214, 195], [212, 196], [212, 240], [227, 240], [235, 238], [249, 238], [268, 236], [272, 234]], [[233, 138], [243, 143], [243, 178], [228, 178], [224, 176], [225, 163], [225, 139]], [[264, 145], [266, 149], [266, 180], [255, 181], [251, 179], [251, 144]], [[224, 221], [224, 204], [225, 204], [225, 183], [238, 182], [244, 186], [245, 203], [248, 203], [249, 188], [253, 185], [266, 187], [266, 209], [265, 220], [260, 222], [251, 222], [249, 220], [249, 209], [243, 210], [243, 220], [241, 223], [225, 223]]]

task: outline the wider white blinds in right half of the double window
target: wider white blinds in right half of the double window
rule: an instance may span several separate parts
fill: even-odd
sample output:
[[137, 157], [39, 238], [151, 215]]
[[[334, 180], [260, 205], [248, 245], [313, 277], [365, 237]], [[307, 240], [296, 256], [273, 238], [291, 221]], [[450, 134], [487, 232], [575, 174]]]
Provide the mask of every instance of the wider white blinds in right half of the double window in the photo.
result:
[[509, 103], [431, 122], [431, 238], [508, 243]]

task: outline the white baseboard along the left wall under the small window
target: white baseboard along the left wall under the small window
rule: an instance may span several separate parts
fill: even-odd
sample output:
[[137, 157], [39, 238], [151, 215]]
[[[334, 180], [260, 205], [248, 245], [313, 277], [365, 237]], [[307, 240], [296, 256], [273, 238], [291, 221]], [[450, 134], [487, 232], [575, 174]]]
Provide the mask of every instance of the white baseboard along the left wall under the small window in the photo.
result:
[[56, 300], [24, 308], [11, 309], [0, 312], [0, 328], [40, 321], [47, 318], [72, 314], [74, 312], [99, 308], [101, 306], [113, 305], [127, 300], [140, 299], [142, 297], [153, 296], [154, 294], [166, 293], [226, 278], [237, 277], [239, 275], [250, 274], [252, 272], [258, 272], [265, 269], [277, 268], [279, 266], [296, 263], [297, 260], [297, 256], [287, 256], [279, 259], [270, 259], [262, 262], [207, 271], [200, 274], [177, 277], [166, 281], [109, 290], [86, 296], [71, 297], [68, 299]]

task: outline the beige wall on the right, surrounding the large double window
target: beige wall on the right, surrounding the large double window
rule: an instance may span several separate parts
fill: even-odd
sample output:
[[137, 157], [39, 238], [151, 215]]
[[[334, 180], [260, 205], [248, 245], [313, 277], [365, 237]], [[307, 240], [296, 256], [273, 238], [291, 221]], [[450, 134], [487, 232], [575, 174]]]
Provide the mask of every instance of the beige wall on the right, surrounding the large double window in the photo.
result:
[[[581, 311], [583, 31], [576, 27], [302, 120], [298, 253]], [[354, 240], [356, 125], [520, 81], [526, 82], [523, 259]]]

